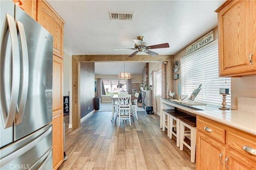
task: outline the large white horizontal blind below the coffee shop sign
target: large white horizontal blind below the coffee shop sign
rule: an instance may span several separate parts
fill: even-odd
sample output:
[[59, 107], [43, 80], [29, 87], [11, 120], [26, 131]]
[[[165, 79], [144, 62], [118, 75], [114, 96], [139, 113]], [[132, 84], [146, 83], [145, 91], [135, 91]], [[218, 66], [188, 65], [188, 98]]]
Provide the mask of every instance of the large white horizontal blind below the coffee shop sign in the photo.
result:
[[[222, 106], [220, 88], [229, 88], [231, 79], [219, 77], [218, 43], [189, 57], [180, 60], [181, 94], [191, 95], [194, 89], [202, 84], [196, 101], [214, 106]], [[231, 105], [231, 95], [226, 96], [226, 106]]]

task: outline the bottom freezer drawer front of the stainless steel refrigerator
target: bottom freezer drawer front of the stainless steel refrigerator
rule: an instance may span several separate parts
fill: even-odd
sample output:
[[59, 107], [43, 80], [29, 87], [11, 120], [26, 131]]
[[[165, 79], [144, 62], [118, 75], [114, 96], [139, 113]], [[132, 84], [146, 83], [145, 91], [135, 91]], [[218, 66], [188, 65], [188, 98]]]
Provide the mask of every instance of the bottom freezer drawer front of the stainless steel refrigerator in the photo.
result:
[[50, 164], [52, 169], [51, 149], [52, 124], [2, 148], [0, 169], [28, 169], [38, 167], [38, 162], [41, 166], [48, 164], [46, 167]]

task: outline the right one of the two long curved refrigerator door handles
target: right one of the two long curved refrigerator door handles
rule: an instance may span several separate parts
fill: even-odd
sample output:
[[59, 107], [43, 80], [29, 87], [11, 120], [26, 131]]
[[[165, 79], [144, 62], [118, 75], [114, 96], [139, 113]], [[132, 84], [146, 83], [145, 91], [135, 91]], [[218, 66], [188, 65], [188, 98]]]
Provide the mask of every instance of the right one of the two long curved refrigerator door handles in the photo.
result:
[[29, 68], [28, 68], [28, 45], [26, 40], [26, 34], [23, 24], [20, 21], [17, 21], [17, 27], [18, 32], [20, 33], [20, 43], [21, 43], [21, 67], [22, 67], [22, 78], [21, 78], [21, 87], [20, 87], [20, 98], [17, 103], [17, 113], [16, 113], [16, 125], [22, 123], [22, 119], [24, 116], [24, 111], [26, 107], [27, 102], [27, 96], [28, 96], [28, 74], [29, 74]]

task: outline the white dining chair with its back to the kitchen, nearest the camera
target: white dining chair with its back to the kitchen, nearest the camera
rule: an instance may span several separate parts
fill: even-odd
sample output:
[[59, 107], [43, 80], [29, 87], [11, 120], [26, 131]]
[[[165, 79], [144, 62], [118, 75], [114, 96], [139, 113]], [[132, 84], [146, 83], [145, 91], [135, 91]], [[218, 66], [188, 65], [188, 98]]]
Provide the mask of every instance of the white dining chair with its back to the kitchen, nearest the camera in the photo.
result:
[[[120, 120], [129, 119], [131, 125], [131, 94], [119, 94], [118, 95], [118, 126], [120, 126]], [[122, 111], [122, 115], [121, 115]]]

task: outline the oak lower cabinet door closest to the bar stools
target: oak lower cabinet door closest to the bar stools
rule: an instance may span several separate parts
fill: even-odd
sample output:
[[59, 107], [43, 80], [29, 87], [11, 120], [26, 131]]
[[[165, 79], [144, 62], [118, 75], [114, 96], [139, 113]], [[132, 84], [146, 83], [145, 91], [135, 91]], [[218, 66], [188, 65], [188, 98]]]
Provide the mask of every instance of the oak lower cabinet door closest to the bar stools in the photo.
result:
[[196, 169], [224, 170], [225, 147], [200, 131], [196, 133]]

